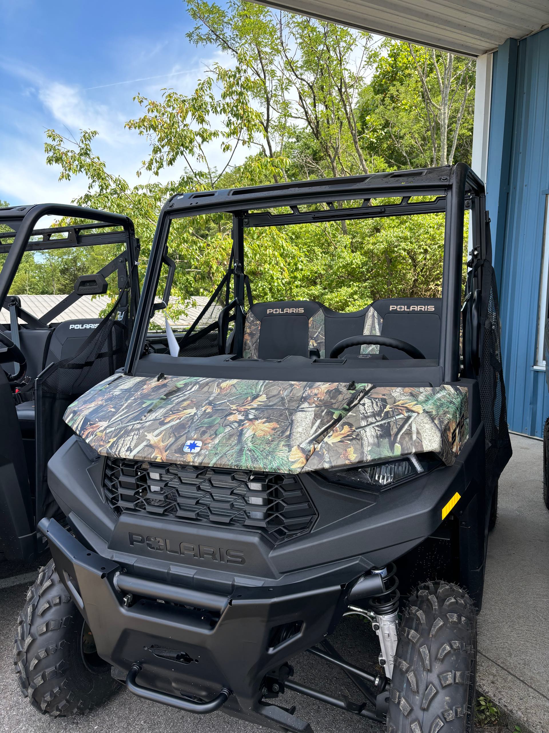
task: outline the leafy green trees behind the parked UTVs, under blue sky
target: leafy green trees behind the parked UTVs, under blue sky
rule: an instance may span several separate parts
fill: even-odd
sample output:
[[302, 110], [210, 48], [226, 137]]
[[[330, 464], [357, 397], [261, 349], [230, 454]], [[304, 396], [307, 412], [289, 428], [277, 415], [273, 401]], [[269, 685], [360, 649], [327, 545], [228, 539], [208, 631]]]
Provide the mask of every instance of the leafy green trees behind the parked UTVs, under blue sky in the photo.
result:
[[[59, 166], [60, 178], [87, 179], [78, 204], [133, 219], [142, 273], [160, 207], [176, 192], [470, 157], [467, 59], [396, 41], [378, 47], [367, 33], [243, 0], [226, 7], [187, 0], [187, 8], [196, 23], [190, 41], [215, 45], [231, 61], [212, 65], [190, 95], [165, 89], [159, 100], [135, 96], [142, 114], [127, 128], [149, 141], [138, 174], [154, 174], [152, 182], [130, 186], [108, 172], [94, 153], [94, 130], [81, 130], [78, 139], [46, 133], [47, 161]], [[212, 144], [224, 156], [220, 169], [209, 160]], [[239, 151], [245, 158], [236, 164]], [[171, 180], [181, 161], [184, 172]], [[358, 309], [376, 298], [437, 295], [443, 239], [440, 215], [247, 230], [247, 273], [258, 300], [314, 298]], [[209, 295], [225, 271], [230, 218], [173, 221], [169, 248], [182, 307]], [[64, 287], [77, 260], [67, 254], [59, 272], [56, 262], [41, 262], [44, 287]]]

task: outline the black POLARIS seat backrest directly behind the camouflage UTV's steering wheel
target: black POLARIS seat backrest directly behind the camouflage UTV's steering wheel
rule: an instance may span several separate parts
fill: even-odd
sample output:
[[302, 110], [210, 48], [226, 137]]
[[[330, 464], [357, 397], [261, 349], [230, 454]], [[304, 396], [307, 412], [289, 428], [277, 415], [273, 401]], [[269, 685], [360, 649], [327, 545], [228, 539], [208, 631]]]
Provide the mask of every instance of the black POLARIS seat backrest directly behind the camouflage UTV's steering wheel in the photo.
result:
[[[427, 359], [438, 359], [441, 336], [441, 298], [384, 298], [374, 301], [373, 330], [370, 333], [392, 336], [417, 347]], [[370, 353], [381, 353], [389, 359], [411, 356], [389, 347], [370, 347]]]

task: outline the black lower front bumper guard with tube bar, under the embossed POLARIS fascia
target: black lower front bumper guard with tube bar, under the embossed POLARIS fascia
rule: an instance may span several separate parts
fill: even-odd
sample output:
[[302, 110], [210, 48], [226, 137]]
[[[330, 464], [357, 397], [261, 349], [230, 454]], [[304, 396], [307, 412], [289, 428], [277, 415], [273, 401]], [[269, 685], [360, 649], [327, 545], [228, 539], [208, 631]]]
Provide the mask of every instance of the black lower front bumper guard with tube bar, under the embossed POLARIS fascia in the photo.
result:
[[[268, 671], [329, 633], [342, 611], [340, 583], [329, 585], [324, 578], [321, 584], [305, 581], [276, 592], [269, 586], [235, 586], [227, 597], [201, 594], [124, 574], [55, 520], [42, 520], [40, 530], [98, 654], [119, 677], [125, 679], [138, 665], [141, 688], [179, 698], [211, 700], [227, 688], [225, 712], [276, 730], [307, 730], [294, 715], [260, 702], [261, 682]], [[294, 625], [294, 634], [277, 643], [277, 628], [286, 624]]]

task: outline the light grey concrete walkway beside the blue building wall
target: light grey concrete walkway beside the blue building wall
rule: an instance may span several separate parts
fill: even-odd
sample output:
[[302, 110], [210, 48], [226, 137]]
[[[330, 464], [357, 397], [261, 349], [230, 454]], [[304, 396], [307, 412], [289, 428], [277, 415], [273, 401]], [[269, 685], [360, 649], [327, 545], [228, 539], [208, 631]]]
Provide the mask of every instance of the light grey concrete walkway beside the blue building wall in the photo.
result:
[[523, 727], [549, 733], [549, 512], [543, 443], [512, 435], [479, 615], [478, 686]]

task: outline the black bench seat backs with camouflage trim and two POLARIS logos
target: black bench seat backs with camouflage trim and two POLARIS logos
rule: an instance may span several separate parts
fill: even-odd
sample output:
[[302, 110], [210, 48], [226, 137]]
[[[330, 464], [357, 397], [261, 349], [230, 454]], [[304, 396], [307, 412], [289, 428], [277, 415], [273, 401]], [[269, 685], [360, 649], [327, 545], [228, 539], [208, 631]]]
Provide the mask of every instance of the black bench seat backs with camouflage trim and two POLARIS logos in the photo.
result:
[[[255, 303], [244, 325], [244, 358], [283, 359], [286, 356], [329, 356], [342, 339], [361, 334], [392, 336], [438, 358], [440, 298], [387, 298], [360, 311], [339, 313], [317, 301]], [[397, 349], [354, 346], [345, 356], [381, 354], [408, 359]]]

